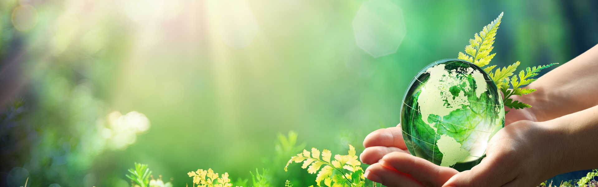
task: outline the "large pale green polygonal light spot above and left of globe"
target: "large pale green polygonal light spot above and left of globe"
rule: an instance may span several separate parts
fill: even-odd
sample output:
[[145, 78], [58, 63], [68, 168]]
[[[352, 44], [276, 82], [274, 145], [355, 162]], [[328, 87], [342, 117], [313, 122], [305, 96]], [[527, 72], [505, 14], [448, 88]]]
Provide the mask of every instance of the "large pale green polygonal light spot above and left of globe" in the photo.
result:
[[371, 56], [395, 53], [407, 29], [403, 11], [388, 0], [364, 2], [353, 19], [357, 46]]

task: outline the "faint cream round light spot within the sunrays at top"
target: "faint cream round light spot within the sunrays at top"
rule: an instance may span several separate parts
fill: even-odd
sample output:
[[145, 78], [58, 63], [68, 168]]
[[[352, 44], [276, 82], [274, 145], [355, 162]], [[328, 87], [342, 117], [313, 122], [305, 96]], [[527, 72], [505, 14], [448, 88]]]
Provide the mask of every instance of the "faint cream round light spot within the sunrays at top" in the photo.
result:
[[258, 23], [255, 16], [245, 7], [228, 8], [220, 17], [218, 30], [222, 41], [230, 47], [242, 49], [255, 39]]

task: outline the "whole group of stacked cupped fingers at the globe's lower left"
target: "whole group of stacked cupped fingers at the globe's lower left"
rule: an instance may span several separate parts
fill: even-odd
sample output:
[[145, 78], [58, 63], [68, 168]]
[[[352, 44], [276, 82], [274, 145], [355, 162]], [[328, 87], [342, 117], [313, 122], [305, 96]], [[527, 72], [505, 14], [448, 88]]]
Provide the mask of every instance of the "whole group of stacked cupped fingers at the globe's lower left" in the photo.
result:
[[361, 162], [371, 164], [364, 176], [385, 186], [441, 186], [459, 173], [411, 155], [400, 124], [371, 132], [365, 137], [364, 147]]

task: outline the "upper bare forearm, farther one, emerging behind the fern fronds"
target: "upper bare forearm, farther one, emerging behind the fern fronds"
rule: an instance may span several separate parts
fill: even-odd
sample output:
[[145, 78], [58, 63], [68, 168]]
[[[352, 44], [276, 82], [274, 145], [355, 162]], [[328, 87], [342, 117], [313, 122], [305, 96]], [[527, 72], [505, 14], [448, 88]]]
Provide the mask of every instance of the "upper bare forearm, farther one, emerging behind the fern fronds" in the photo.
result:
[[527, 88], [538, 91], [522, 96], [538, 120], [550, 120], [598, 104], [598, 46], [548, 72]]

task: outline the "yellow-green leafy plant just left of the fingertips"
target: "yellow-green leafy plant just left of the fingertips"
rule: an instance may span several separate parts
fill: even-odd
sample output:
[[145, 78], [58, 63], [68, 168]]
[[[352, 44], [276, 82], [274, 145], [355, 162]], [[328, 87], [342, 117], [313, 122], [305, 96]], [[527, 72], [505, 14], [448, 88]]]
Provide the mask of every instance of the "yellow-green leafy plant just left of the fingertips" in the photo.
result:
[[[315, 174], [319, 170], [316, 177], [318, 186], [321, 186], [320, 182], [322, 180], [324, 180], [324, 184], [328, 187], [364, 186], [364, 170], [359, 166], [361, 162], [357, 160], [355, 147], [349, 144], [348, 155], [334, 155], [334, 160], [331, 160], [331, 156], [332, 153], [327, 149], [322, 150], [321, 154], [320, 150], [314, 147], [312, 147], [311, 152], [304, 149], [303, 153], [298, 153], [297, 156], [291, 157], [286, 163], [285, 171], [291, 162], [303, 162], [301, 168], [309, 166], [307, 168], [308, 173]], [[337, 174], [335, 174], [335, 171]]]

